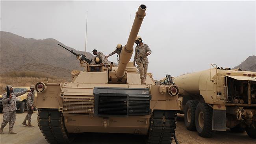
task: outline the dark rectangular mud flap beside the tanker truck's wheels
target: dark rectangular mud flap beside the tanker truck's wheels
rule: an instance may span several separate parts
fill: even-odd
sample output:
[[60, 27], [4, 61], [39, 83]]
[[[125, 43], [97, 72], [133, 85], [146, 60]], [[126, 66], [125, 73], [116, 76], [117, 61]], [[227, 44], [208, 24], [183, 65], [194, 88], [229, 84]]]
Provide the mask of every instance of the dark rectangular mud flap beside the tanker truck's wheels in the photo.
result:
[[226, 131], [226, 110], [212, 110], [212, 130]]

